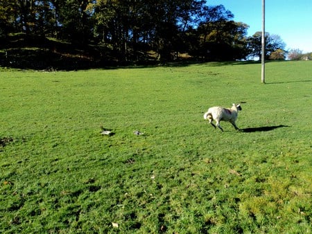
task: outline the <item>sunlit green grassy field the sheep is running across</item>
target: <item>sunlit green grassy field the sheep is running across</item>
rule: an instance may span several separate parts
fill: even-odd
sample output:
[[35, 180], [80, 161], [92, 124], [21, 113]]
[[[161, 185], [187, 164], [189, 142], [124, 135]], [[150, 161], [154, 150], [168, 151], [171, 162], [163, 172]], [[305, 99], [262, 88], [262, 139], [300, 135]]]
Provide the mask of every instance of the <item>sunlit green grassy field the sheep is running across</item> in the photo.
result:
[[312, 62], [260, 73], [0, 70], [0, 233], [311, 233]]

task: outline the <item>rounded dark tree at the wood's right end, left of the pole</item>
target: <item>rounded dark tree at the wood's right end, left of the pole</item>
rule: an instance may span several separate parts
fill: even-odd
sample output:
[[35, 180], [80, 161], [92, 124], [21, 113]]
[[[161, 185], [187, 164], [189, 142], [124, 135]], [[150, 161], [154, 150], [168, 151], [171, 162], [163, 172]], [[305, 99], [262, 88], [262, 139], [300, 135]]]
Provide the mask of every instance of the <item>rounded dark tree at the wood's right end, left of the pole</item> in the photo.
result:
[[245, 50], [248, 25], [232, 21], [234, 15], [224, 6], [205, 6], [198, 26], [198, 55], [205, 60], [241, 60]]

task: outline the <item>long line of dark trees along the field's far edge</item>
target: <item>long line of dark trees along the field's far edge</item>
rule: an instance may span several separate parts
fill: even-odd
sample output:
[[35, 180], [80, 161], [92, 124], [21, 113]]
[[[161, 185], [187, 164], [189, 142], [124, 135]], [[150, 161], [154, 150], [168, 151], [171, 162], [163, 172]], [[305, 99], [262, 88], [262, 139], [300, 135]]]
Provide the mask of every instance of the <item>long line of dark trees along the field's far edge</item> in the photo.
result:
[[[208, 2], [209, 3], [209, 2]], [[234, 21], [223, 5], [205, 0], [10, 0], [0, 1], [0, 37], [22, 33], [72, 46], [99, 46], [119, 61], [203, 61], [261, 57], [261, 32]], [[266, 33], [266, 59], [284, 60], [285, 44]], [[107, 56], [107, 53], [101, 53]], [[150, 55], [150, 54], [149, 54]]]

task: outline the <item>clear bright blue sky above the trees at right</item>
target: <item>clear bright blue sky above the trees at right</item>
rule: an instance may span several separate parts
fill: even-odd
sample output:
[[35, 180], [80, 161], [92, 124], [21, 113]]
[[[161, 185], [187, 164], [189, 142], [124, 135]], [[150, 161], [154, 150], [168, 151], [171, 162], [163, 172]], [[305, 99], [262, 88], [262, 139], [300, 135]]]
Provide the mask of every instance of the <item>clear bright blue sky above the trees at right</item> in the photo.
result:
[[[262, 0], [207, 0], [209, 6], [223, 5], [234, 21], [248, 24], [248, 35], [262, 30]], [[286, 50], [312, 52], [312, 0], [266, 0], [266, 32], [279, 35]]]

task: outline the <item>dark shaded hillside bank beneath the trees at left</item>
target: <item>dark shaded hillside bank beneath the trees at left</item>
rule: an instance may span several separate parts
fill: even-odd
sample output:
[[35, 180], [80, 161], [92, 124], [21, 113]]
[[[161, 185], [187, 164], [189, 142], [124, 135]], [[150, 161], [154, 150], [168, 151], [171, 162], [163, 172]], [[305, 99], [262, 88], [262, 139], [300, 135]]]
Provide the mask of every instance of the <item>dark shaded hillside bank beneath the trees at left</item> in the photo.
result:
[[[140, 51], [138, 64], [159, 61]], [[15, 69], [78, 70], [130, 64], [118, 52], [104, 45], [81, 45], [51, 37], [26, 36], [22, 33], [0, 41], [0, 66]]]

